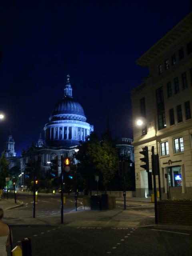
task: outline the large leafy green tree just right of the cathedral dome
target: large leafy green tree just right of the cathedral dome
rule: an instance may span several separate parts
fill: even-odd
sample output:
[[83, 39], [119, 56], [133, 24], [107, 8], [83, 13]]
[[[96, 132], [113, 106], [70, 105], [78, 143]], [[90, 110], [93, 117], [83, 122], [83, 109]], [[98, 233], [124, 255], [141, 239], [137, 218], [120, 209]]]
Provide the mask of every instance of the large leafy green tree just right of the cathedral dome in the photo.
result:
[[85, 180], [85, 188], [91, 190], [94, 176], [98, 175], [102, 177], [106, 191], [107, 184], [118, 169], [118, 155], [112, 143], [106, 138], [100, 142], [98, 135], [92, 132], [79, 146], [76, 158], [80, 161], [78, 168]]

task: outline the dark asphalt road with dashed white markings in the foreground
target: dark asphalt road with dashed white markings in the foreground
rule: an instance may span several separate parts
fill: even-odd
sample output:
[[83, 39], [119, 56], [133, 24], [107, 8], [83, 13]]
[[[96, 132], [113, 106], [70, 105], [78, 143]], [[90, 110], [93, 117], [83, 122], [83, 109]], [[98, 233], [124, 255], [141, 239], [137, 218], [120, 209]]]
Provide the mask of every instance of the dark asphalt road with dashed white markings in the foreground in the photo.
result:
[[192, 231], [147, 228], [12, 226], [14, 246], [31, 238], [33, 256], [190, 256]]

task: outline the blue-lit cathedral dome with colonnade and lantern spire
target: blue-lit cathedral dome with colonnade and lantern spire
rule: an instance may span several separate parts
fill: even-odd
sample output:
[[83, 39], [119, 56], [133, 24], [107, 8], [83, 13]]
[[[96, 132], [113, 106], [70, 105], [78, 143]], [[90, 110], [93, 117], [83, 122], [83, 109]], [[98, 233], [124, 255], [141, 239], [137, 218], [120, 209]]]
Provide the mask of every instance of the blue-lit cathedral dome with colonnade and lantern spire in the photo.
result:
[[86, 122], [82, 106], [73, 99], [72, 87], [67, 76], [64, 97], [54, 107], [45, 125], [45, 143], [53, 147], [72, 148], [85, 141], [93, 131], [93, 126]]

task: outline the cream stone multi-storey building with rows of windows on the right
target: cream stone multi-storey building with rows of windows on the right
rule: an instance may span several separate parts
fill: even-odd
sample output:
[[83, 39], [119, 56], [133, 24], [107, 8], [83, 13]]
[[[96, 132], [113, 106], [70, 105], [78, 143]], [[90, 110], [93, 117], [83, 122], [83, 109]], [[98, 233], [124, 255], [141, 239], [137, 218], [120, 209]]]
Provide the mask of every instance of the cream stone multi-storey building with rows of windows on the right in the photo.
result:
[[[149, 69], [149, 76], [131, 95], [136, 196], [148, 196], [152, 190], [150, 150], [154, 146], [160, 156], [162, 197], [169, 192], [171, 197], [192, 198], [192, 13], [136, 64]], [[140, 167], [144, 146], [149, 149], [149, 173]]]

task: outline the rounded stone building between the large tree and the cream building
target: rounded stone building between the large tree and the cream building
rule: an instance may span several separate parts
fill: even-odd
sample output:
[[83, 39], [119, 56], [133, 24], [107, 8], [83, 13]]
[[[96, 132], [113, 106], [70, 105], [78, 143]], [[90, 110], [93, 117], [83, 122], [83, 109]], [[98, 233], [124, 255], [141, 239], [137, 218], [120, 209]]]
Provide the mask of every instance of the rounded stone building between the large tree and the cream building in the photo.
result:
[[118, 144], [116, 144], [116, 148], [119, 150], [120, 156], [129, 158], [132, 162], [134, 162], [134, 146], [132, 145], [132, 139], [122, 138]]

